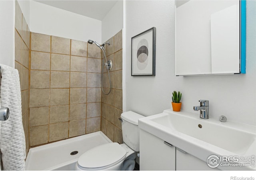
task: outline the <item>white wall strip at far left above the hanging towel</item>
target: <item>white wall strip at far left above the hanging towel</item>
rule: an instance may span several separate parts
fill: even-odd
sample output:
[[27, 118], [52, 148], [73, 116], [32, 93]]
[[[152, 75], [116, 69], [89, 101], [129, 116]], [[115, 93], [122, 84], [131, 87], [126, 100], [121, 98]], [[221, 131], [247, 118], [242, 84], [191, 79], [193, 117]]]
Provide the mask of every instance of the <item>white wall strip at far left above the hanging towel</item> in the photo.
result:
[[14, 1], [0, 1], [0, 64], [14, 68]]

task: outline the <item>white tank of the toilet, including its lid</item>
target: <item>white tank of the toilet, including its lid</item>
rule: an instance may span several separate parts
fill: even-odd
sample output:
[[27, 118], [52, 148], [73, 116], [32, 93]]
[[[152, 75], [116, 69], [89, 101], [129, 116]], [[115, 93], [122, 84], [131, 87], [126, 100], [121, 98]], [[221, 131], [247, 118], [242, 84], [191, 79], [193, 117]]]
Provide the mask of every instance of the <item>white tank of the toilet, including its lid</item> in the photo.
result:
[[136, 152], [140, 150], [138, 119], [144, 117], [145, 116], [132, 111], [123, 112], [121, 114], [123, 141]]

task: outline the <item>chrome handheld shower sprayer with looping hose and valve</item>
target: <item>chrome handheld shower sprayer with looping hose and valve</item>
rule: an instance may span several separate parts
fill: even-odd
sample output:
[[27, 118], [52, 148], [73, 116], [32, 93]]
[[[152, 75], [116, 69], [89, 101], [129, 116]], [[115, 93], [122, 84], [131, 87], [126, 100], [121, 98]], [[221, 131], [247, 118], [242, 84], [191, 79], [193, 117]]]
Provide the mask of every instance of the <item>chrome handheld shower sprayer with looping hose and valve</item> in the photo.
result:
[[[101, 70], [101, 90], [102, 90], [102, 92], [103, 92], [105, 95], [108, 95], [108, 94], [110, 94], [110, 92], [111, 92], [111, 80], [110, 80], [109, 70], [110, 70], [111, 67], [112, 67], [112, 62], [111, 62], [111, 60], [107, 60], [107, 58], [106, 58], [106, 52], [105, 52], [104, 46], [105, 46], [105, 44], [110, 45], [110, 42], [105, 42], [105, 43], [103, 43], [102, 45], [100, 45], [100, 44], [98, 44], [97, 42], [95, 42], [95, 41], [93, 41], [93, 40], [88, 40], [88, 43], [89, 43], [89, 44], [92, 44], [92, 43], [96, 44], [96, 46], [98, 46], [98, 47], [102, 50], [102, 52], [103, 52], [103, 54], [104, 54], [104, 58], [105, 58], [105, 60], [106, 60], [106, 63], [104, 63], [104, 58], [103, 58], [103, 61], [102, 61], [102, 70]], [[110, 90], [109, 90], [108, 93], [105, 93], [105, 92], [104, 92], [103, 86], [102, 86], [102, 84], [103, 84], [103, 69], [104, 69], [104, 66], [106, 66], [106, 68], [107, 68], [107, 71], [108, 71], [108, 79], [109, 79], [109, 84], [110, 84]]]

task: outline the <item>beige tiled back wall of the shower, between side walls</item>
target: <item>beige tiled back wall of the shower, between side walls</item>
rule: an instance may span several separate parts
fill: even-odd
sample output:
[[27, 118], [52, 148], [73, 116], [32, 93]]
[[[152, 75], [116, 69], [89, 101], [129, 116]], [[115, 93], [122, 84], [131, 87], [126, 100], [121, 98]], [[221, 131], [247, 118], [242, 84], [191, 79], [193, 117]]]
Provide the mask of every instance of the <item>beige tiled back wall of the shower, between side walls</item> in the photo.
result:
[[31, 33], [30, 146], [100, 130], [97, 54], [87, 42]]

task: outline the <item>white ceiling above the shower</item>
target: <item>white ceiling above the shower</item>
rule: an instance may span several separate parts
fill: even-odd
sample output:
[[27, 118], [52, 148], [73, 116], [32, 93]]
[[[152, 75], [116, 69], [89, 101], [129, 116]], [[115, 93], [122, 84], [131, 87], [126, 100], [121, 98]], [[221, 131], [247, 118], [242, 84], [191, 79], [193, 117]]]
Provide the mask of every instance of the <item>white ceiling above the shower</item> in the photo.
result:
[[35, 0], [49, 6], [102, 20], [117, 0]]

